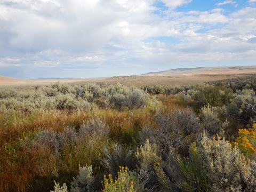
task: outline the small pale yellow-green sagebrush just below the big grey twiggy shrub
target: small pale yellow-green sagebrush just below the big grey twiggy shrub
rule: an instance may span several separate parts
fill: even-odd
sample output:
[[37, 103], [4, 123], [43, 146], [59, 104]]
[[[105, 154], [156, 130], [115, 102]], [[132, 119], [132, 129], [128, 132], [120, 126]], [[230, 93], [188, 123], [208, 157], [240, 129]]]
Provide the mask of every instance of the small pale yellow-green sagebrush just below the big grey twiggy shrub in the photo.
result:
[[143, 146], [137, 148], [135, 157], [140, 163], [142, 169], [153, 168], [154, 163], [162, 163], [162, 149], [154, 144], [150, 144], [149, 140], [146, 139], [146, 142]]

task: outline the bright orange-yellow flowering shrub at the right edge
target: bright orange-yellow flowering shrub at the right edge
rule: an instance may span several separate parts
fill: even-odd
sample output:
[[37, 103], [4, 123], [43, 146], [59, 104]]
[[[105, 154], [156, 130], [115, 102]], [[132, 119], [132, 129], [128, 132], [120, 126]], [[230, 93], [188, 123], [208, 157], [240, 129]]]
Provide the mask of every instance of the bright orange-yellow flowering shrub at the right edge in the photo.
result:
[[251, 129], [239, 129], [238, 148], [247, 158], [256, 157], [256, 124]]

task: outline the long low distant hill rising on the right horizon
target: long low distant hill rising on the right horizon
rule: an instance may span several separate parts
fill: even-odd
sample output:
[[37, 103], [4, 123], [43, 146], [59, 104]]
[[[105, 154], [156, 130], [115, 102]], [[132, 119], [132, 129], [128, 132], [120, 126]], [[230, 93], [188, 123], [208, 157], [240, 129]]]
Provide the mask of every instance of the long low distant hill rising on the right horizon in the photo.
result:
[[178, 68], [165, 71], [150, 72], [138, 76], [170, 76], [170, 75], [209, 75], [209, 74], [234, 74], [234, 73], [256, 73], [256, 66], [243, 67], [196, 67]]

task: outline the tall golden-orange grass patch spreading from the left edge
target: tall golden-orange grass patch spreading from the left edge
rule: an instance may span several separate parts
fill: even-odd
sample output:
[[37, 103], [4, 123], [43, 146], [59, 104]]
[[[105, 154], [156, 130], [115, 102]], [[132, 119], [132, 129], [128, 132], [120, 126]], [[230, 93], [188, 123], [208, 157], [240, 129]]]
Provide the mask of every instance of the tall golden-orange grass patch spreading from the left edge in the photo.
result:
[[[35, 110], [0, 114], [0, 191], [50, 191], [54, 180], [60, 184], [70, 183], [78, 174], [79, 164], [92, 165], [93, 173], [102, 176], [105, 171], [101, 165], [105, 156], [103, 146], [111, 150], [112, 143], [117, 141], [134, 145], [142, 124], [151, 121], [157, 105], [149, 103], [142, 109], [121, 111]], [[78, 132], [81, 125], [95, 118], [109, 126], [109, 137], [85, 137], [75, 145], [65, 146], [59, 155], [44, 146], [33, 147], [35, 135], [42, 130], [61, 133], [66, 127], [74, 127]]]

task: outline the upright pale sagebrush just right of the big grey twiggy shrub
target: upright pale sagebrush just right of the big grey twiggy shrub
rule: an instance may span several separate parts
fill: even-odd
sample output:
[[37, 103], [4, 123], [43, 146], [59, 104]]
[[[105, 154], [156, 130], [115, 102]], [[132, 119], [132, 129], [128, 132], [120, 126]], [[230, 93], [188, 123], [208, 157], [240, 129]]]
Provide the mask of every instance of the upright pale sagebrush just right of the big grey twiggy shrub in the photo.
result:
[[202, 126], [204, 130], [210, 135], [223, 135], [225, 127], [228, 126], [227, 120], [225, 122], [220, 122], [218, 116], [214, 113], [212, 107], [207, 105], [201, 108]]

